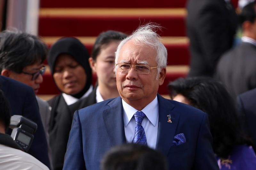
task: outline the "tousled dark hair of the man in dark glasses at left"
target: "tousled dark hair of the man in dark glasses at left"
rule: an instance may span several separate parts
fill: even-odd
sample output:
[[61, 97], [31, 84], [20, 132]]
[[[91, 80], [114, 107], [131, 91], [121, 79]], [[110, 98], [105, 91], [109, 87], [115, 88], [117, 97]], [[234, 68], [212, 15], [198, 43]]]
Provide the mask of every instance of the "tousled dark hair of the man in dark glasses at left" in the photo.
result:
[[47, 46], [37, 36], [5, 30], [0, 34], [0, 71], [21, 73], [23, 68], [43, 63]]

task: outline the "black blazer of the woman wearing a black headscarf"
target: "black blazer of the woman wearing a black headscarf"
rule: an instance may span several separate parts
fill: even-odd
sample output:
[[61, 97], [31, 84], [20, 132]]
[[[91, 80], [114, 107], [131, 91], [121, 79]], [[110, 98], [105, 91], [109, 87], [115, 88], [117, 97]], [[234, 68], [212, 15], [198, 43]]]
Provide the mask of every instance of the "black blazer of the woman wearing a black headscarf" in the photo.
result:
[[49, 100], [48, 103], [52, 107], [49, 128], [52, 165], [54, 170], [61, 170], [63, 168], [74, 112], [96, 103], [96, 88], [88, 97], [69, 106], [61, 94]]

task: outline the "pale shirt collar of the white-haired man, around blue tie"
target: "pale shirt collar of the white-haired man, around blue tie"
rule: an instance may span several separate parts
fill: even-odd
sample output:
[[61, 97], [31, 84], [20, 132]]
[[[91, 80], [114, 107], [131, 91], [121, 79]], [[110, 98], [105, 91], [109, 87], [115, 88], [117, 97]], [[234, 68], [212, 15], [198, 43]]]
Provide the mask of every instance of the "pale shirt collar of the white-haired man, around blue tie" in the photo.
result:
[[[133, 108], [129, 104], [127, 104], [123, 99], [122, 99], [122, 104], [124, 108], [124, 126], [127, 127], [128, 123], [131, 121], [132, 116], [134, 113], [136, 113], [137, 109]], [[146, 107], [144, 107], [141, 110], [148, 118], [148, 120], [156, 126], [156, 120], [157, 120], [157, 115], [158, 115], [158, 100], [157, 96], [153, 101], [151, 101]]]

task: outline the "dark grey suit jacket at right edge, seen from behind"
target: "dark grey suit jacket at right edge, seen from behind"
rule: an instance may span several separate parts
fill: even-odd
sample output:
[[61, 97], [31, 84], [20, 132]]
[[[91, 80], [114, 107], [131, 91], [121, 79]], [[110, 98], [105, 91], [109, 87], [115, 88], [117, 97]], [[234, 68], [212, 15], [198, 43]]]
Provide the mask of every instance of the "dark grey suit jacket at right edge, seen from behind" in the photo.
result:
[[225, 53], [217, 65], [216, 79], [226, 85], [234, 101], [256, 88], [256, 46], [242, 42]]

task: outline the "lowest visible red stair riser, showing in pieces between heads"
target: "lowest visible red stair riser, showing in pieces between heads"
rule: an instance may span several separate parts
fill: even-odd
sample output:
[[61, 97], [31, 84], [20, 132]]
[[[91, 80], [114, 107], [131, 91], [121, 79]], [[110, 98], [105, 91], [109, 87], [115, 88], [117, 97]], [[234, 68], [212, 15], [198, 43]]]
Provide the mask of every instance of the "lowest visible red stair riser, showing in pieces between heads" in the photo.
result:
[[[179, 77], [185, 77], [185, 76], [186, 74], [183, 74], [183, 73], [167, 73], [164, 80], [164, 84], [161, 85], [158, 89], [159, 94], [168, 94], [168, 91], [167, 91], [168, 83]], [[50, 74], [44, 74], [43, 78], [44, 78], [44, 82], [40, 85], [40, 89], [38, 92], [39, 95], [41, 94], [55, 95], [60, 93]], [[97, 76], [93, 74], [92, 76], [93, 85], [95, 84], [96, 80], [97, 80]]]

